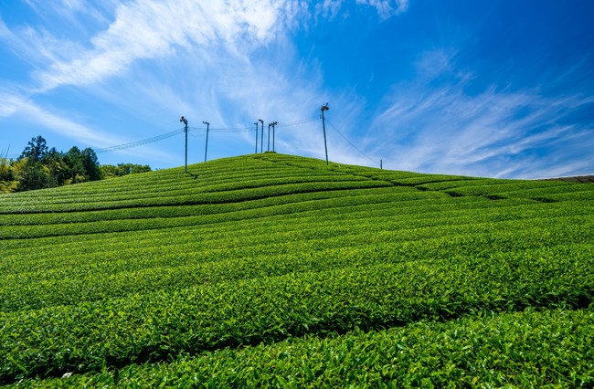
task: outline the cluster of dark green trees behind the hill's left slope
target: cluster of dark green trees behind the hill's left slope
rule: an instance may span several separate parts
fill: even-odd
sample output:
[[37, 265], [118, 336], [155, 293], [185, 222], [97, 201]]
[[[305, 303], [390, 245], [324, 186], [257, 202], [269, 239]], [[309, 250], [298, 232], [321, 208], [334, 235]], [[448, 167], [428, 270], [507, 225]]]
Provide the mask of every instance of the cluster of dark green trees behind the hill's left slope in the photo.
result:
[[24, 192], [33, 189], [85, 183], [150, 172], [149, 165], [133, 163], [100, 164], [90, 148], [76, 146], [68, 152], [48, 148], [41, 136], [32, 138], [16, 160], [0, 155], [0, 193]]

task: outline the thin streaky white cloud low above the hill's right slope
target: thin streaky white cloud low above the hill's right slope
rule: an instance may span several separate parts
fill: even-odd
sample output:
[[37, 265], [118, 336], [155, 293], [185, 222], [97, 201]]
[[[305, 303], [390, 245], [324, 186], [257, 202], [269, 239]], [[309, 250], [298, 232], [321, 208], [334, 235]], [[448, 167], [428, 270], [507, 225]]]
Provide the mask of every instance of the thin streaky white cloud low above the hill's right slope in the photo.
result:
[[[570, 172], [579, 159], [592, 166], [592, 154], [576, 144], [579, 139], [594, 146], [592, 128], [571, 118], [591, 109], [594, 100], [575, 90], [545, 96], [538, 89], [492, 86], [469, 93], [472, 77], [457, 71], [451, 58], [431, 53], [419, 62], [426, 77], [398, 84], [386, 96], [370, 132], [383, 140], [374, 152], [389, 155], [392, 168], [543, 177]], [[554, 147], [562, 143], [567, 148]], [[545, 154], [553, 149], [557, 155]]]

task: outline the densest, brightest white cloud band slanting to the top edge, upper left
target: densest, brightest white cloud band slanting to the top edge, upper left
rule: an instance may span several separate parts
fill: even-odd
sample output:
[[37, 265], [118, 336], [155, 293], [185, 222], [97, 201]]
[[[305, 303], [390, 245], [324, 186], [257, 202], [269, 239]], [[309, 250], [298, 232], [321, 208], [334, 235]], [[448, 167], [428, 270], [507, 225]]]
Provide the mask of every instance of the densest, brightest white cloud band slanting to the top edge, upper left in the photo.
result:
[[120, 5], [109, 28], [70, 60], [37, 73], [41, 90], [87, 85], [120, 75], [140, 59], [173, 56], [177, 47], [225, 47], [242, 56], [266, 45], [302, 12], [299, 2], [196, 3], [137, 0]]

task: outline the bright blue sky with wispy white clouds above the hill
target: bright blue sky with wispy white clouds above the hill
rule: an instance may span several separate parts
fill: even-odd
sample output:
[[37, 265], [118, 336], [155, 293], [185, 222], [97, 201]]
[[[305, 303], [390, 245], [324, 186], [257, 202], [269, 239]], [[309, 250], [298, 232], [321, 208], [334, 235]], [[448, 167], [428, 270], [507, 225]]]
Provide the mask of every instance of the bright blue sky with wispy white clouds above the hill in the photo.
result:
[[[188, 163], [203, 121], [210, 160], [255, 152], [258, 119], [277, 152], [324, 159], [328, 102], [334, 162], [594, 173], [592, 20], [591, 0], [2, 0], [0, 151], [99, 150], [184, 115]], [[98, 155], [180, 166], [184, 135]]]

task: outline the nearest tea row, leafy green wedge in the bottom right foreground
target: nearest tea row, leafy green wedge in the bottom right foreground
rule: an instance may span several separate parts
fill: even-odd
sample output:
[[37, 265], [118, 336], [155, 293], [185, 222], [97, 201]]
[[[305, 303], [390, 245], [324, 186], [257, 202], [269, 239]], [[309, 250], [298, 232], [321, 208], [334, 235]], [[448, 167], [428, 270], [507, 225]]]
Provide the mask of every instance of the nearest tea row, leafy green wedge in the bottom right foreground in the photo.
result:
[[592, 310], [525, 311], [305, 336], [22, 386], [590, 387], [593, 343]]

